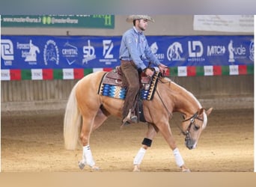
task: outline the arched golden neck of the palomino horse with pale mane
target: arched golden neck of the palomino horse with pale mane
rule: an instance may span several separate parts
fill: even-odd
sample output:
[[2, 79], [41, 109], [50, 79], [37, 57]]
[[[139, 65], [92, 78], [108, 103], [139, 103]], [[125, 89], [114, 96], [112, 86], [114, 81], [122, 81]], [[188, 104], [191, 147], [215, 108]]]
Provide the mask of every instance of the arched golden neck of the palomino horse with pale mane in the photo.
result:
[[198, 108], [201, 108], [200, 102], [195, 96], [185, 88], [171, 82], [171, 95], [174, 97], [174, 111], [183, 114], [194, 114]]

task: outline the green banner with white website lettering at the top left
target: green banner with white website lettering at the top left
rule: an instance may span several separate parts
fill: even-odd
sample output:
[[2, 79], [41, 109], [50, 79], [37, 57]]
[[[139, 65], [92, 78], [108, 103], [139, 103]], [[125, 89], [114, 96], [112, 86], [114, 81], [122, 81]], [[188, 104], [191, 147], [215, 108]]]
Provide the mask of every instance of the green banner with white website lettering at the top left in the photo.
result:
[[114, 15], [1, 16], [1, 27], [114, 28]]

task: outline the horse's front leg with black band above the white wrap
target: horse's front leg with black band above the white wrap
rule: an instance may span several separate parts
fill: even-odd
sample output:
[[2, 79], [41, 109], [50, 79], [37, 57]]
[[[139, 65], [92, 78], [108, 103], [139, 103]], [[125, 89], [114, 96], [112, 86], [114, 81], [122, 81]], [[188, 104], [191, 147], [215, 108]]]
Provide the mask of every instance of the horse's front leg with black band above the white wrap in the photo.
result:
[[148, 124], [146, 137], [141, 142], [142, 147], [138, 150], [138, 153], [133, 160], [133, 171], [140, 171], [139, 167], [141, 165], [142, 159], [144, 158], [144, 154], [146, 153], [147, 148], [151, 146], [152, 140], [156, 136], [157, 132], [158, 129], [156, 129], [156, 126]]

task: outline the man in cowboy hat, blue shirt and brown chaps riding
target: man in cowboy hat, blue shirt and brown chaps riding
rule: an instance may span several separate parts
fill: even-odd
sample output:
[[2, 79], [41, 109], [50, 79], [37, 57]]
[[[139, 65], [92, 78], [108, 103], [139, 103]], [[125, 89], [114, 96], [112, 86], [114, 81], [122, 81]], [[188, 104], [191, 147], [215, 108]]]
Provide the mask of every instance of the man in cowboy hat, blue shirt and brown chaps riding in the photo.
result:
[[159, 67], [159, 71], [166, 69], [156, 56], [151, 52], [147, 39], [143, 34], [147, 22], [154, 20], [147, 15], [130, 15], [127, 22], [132, 22], [133, 27], [123, 34], [120, 46], [121, 71], [124, 76], [124, 85], [127, 86], [127, 95], [123, 108], [123, 123], [136, 123], [137, 117], [134, 114], [134, 102], [139, 91], [138, 71], [143, 71], [147, 76], [153, 76], [153, 70], [147, 68], [144, 60]]

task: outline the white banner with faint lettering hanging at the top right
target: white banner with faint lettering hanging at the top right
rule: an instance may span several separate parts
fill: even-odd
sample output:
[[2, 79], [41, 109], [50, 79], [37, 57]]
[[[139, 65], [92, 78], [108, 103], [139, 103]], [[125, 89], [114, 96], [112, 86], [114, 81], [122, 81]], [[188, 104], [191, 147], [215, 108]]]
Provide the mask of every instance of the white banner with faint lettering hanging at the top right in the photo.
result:
[[195, 15], [195, 31], [254, 32], [253, 15]]

